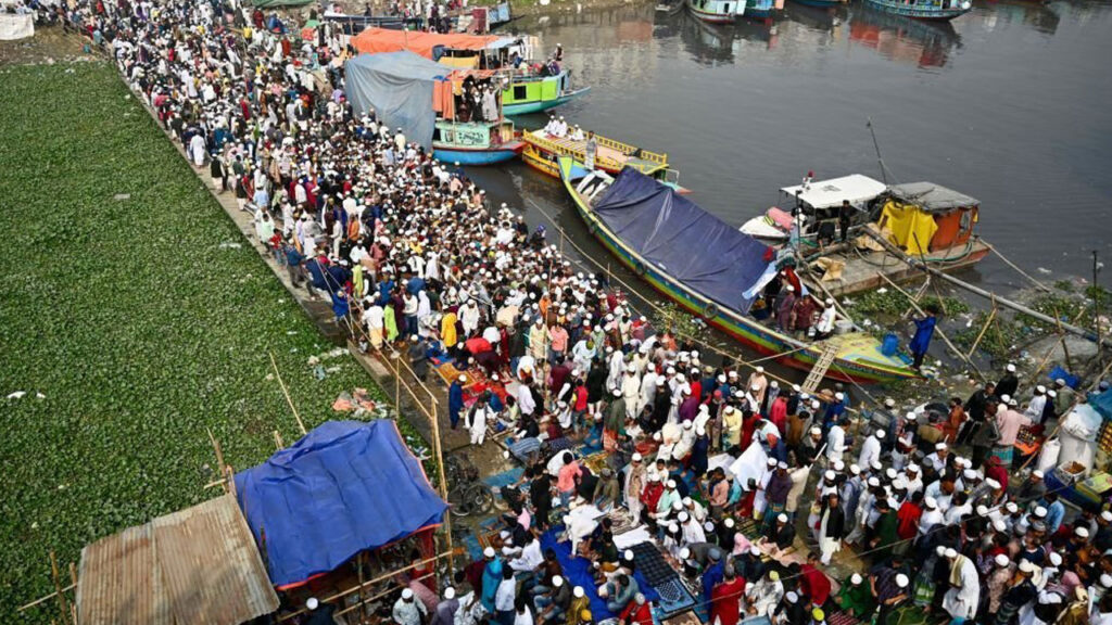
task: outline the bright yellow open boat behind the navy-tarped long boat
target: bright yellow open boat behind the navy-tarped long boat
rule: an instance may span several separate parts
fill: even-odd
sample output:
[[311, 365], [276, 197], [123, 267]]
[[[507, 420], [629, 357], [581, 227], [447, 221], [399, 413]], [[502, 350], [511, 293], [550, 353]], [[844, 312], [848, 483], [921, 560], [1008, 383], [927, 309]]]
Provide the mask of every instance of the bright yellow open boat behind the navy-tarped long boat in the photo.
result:
[[[679, 186], [679, 172], [668, 169], [668, 155], [643, 150], [600, 135], [590, 137], [596, 145], [595, 168], [609, 173], [617, 173], [625, 167], [633, 167], [645, 176], [676, 189], [681, 194], [688, 192]], [[537, 171], [559, 178], [559, 165], [556, 159], [569, 156], [578, 163], [587, 162], [587, 139], [574, 140], [568, 137], [555, 137], [537, 129], [522, 133], [525, 151], [522, 159]]]

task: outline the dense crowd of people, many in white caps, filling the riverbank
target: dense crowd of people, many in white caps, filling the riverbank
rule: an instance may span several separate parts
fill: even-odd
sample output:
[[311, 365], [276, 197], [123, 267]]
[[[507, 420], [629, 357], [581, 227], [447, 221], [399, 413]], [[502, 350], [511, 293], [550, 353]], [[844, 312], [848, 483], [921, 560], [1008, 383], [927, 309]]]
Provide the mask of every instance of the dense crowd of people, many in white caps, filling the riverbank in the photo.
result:
[[[945, 410], [888, 400], [862, 425], [848, 388], [808, 395], [653, 328], [542, 227], [490, 208], [457, 167], [353, 110], [338, 32], [297, 41], [237, 0], [61, 11], [252, 212], [297, 288], [328, 298], [366, 349], [408, 354], [420, 376], [450, 363], [453, 427], [475, 445], [507, 431], [526, 465], [504, 489], [497, 548], [431, 605], [403, 594], [399, 625], [582, 625], [594, 595], [622, 625], [649, 625], [615, 517], [648, 528], [715, 625], [834, 613], [887, 624], [912, 605], [954, 623], [1112, 623], [1112, 513], [1068, 519], [1039, 472], [1022, 485], [1009, 474], [1023, 465], [1012, 457], [1020, 429], [1072, 404], [1064, 380], [1021, 389], [1010, 367]], [[784, 304], [797, 287], [786, 274], [780, 286], [780, 324], [802, 329]], [[602, 468], [579, 457], [584, 446]], [[723, 454], [761, 466], [743, 483], [736, 465], [712, 463]], [[583, 505], [612, 514], [584, 519]], [[592, 563], [589, 579], [574, 583], [540, 549], [555, 526]], [[868, 566], [835, 591], [828, 565], [852, 562], [837, 555], [846, 547]]]

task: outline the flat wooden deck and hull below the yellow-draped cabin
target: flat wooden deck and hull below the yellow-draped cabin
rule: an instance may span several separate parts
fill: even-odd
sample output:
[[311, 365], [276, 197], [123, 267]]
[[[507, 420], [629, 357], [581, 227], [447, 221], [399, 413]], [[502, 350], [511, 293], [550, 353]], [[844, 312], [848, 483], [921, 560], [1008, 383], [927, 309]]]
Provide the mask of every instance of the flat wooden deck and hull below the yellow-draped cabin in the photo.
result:
[[[917, 267], [910, 267], [906, 262], [893, 257], [887, 251], [845, 249], [842, 246], [832, 248], [834, 251], [822, 254], [810, 261], [808, 275], [804, 278], [808, 288], [817, 288], [816, 280], [822, 279], [822, 286], [835, 296], [851, 295], [855, 292], [872, 290], [887, 285], [882, 277], [885, 276], [893, 282], [907, 281], [923, 277], [923, 270]], [[952, 250], [949, 256], [945, 254], [933, 255], [926, 260], [932, 266], [951, 271], [970, 267], [976, 264], [989, 254], [989, 246], [980, 239], [970, 241], [969, 247]], [[821, 274], [825, 270], [832, 278], [825, 278]], [[837, 275], [837, 277], [833, 277]], [[823, 279], [825, 278], [825, 279]]]

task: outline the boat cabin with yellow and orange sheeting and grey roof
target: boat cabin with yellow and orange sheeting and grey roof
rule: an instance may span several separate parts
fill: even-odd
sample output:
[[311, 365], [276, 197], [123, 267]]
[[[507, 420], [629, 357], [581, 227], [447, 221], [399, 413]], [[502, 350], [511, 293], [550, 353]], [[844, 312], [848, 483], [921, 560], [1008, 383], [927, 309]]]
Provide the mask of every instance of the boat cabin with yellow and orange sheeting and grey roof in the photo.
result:
[[892, 242], [912, 255], [965, 245], [977, 221], [974, 198], [933, 182], [888, 187], [878, 226], [892, 232]]

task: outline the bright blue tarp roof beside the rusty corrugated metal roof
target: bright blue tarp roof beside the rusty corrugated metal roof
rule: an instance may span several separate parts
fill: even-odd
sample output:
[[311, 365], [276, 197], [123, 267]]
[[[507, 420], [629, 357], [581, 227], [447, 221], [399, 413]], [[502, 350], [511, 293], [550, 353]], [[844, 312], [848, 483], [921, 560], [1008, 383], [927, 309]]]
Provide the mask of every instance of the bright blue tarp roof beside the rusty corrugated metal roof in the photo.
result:
[[328, 421], [237, 474], [236, 490], [278, 587], [438, 525], [448, 507], [388, 419]]

